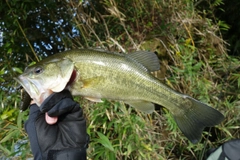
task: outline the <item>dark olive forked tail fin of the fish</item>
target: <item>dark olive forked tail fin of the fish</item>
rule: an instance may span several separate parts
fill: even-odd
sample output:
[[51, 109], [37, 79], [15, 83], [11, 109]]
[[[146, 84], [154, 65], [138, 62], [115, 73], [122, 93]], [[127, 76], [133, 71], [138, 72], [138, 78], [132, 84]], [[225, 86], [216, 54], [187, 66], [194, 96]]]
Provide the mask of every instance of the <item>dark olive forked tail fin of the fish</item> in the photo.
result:
[[[219, 124], [224, 116], [204, 103], [188, 96], [185, 98], [191, 101], [192, 107], [184, 110], [182, 115], [173, 115], [173, 117], [183, 134], [192, 143], [197, 143], [201, 138], [203, 129]], [[186, 107], [182, 106], [181, 108]]]

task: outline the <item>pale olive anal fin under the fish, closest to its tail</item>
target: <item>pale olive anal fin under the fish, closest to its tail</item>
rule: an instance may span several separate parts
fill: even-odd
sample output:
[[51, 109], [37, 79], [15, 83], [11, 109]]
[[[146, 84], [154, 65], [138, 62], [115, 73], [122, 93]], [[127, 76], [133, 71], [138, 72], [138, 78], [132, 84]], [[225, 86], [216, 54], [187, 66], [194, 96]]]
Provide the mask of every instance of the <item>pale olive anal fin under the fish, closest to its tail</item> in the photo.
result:
[[147, 101], [124, 101], [124, 102], [145, 113], [152, 113], [155, 109], [154, 104]]

